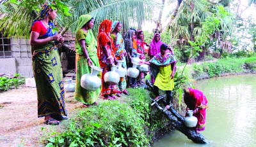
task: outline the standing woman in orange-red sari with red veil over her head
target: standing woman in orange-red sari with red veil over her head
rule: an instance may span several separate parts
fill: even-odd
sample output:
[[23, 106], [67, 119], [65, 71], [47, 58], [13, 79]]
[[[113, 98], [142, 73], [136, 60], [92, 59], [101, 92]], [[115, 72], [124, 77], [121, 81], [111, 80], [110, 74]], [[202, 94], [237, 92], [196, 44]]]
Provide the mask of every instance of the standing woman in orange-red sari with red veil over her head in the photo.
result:
[[113, 100], [116, 94], [116, 85], [108, 85], [104, 82], [104, 75], [111, 71], [111, 66], [115, 65], [115, 45], [111, 39], [111, 24], [110, 20], [103, 20], [100, 23], [99, 34], [98, 34], [98, 48], [97, 56], [99, 58], [100, 67], [102, 71], [102, 90], [101, 94], [105, 99]]

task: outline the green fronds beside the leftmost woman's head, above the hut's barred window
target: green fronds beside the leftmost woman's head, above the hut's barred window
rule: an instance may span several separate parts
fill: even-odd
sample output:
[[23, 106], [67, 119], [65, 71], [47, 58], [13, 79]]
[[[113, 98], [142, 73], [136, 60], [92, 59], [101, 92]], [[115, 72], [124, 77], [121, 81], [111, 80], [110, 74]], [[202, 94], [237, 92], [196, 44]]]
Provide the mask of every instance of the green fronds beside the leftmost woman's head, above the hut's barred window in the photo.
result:
[[[57, 9], [60, 15], [69, 17], [70, 13], [67, 4], [61, 0], [51, 0], [50, 6]], [[2, 16], [0, 22], [0, 30], [4, 31], [6, 36], [26, 36], [30, 34], [31, 24], [38, 17], [41, 4], [44, 0], [12, 0], [3, 3], [4, 8], [1, 9]]]

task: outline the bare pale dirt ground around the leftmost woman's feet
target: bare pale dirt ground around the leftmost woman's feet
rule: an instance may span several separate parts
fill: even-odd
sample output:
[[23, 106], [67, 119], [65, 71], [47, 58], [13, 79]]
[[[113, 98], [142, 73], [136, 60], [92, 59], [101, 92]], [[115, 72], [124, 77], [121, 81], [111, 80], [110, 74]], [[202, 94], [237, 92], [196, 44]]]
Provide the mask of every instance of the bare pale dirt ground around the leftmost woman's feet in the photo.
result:
[[[81, 109], [73, 94], [65, 95], [70, 118]], [[42, 146], [38, 141], [45, 132], [60, 130], [67, 125], [68, 120], [65, 121], [51, 126], [44, 124], [44, 118], [37, 118], [36, 88], [21, 86], [0, 93], [0, 146]]]

